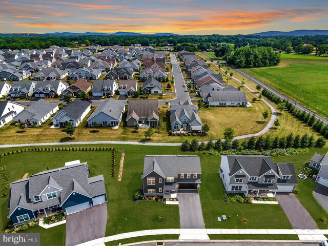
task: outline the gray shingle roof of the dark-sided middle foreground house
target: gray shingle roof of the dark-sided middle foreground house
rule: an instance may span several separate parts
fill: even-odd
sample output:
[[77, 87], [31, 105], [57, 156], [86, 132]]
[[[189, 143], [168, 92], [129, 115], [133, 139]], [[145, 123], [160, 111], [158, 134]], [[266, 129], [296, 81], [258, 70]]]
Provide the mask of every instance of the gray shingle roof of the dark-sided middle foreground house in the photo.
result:
[[198, 155], [146, 155], [144, 174], [155, 171], [163, 177], [178, 177], [179, 173], [201, 173]]

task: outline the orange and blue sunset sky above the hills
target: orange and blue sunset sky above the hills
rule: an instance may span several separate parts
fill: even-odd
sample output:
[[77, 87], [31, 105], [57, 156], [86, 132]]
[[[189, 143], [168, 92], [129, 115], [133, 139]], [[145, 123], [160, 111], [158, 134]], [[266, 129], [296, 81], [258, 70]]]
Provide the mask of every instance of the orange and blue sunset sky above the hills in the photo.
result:
[[0, 1], [1, 33], [249, 34], [328, 29], [327, 0]]

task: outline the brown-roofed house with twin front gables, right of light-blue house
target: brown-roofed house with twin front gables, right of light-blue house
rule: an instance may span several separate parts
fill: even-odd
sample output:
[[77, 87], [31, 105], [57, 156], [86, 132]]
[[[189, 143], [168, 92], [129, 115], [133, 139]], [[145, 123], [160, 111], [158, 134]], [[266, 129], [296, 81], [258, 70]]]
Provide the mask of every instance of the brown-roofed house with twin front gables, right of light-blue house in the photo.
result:
[[157, 127], [159, 120], [157, 99], [131, 99], [128, 104], [127, 126]]

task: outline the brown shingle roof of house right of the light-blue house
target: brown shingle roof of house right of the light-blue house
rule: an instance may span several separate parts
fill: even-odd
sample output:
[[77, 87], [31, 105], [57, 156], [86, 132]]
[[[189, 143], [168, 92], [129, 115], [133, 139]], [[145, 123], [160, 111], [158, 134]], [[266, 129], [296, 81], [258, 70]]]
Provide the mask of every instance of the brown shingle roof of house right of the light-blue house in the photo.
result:
[[[128, 117], [152, 117], [157, 120], [158, 117], [158, 100], [157, 99], [131, 99], [128, 104]], [[138, 119], [138, 118], [136, 118]]]

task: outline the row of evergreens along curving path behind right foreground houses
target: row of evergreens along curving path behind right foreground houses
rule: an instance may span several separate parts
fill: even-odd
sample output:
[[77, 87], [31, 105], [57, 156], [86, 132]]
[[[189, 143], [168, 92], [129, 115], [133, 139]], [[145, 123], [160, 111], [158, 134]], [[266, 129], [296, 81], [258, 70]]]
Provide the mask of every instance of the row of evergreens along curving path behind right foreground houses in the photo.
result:
[[238, 151], [259, 150], [261, 152], [272, 149], [290, 149], [290, 152], [293, 152], [291, 148], [312, 148], [314, 146], [322, 148], [325, 144], [326, 141], [322, 137], [315, 140], [312, 135], [309, 136], [308, 134], [304, 134], [302, 136], [296, 135], [294, 137], [293, 133], [291, 133], [286, 137], [277, 136], [274, 138], [271, 138], [270, 136], [259, 136], [258, 138], [255, 138], [252, 136], [244, 141], [239, 141], [238, 139], [231, 141], [229, 138], [224, 140], [219, 139], [215, 142], [209, 141], [207, 144], [204, 142], [199, 144], [197, 139], [194, 138], [192, 141], [185, 140], [182, 142], [181, 149], [184, 151], [215, 150], [218, 152], [231, 149]]

